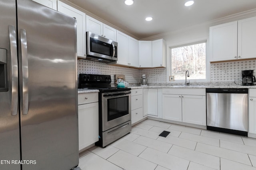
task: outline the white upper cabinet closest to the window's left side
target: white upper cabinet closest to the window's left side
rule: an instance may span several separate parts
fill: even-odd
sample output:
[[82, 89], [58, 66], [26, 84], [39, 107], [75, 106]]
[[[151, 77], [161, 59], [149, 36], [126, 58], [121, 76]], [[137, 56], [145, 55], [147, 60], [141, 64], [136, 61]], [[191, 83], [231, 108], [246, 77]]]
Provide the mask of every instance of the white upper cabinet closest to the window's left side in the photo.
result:
[[166, 41], [152, 41], [152, 67], [166, 67]]

